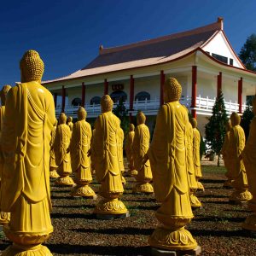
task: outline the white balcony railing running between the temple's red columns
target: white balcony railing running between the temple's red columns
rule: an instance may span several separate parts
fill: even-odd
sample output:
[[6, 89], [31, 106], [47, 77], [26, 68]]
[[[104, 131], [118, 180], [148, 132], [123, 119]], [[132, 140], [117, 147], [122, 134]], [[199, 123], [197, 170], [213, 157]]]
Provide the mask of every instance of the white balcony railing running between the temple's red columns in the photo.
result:
[[[181, 104], [185, 105], [187, 108], [191, 108], [191, 97], [186, 96], [186, 97], [181, 97], [180, 99]], [[209, 98], [208, 96], [206, 98], [198, 96], [196, 97], [196, 107], [195, 109], [199, 111], [201, 114], [211, 114], [212, 113], [212, 107], [214, 105], [215, 98]], [[113, 108], [116, 108], [116, 106], [119, 104], [119, 102], [116, 102], [113, 104]], [[124, 102], [125, 108], [129, 109], [130, 104], [128, 101]], [[144, 101], [135, 101], [133, 102], [133, 110], [129, 111], [132, 113], [137, 113], [138, 110], [142, 110], [148, 114], [155, 114], [157, 113], [158, 109], [160, 106], [160, 100], [157, 98], [154, 98], [153, 100], [144, 100]], [[243, 104], [241, 107], [242, 112], [245, 110], [247, 105]], [[94, 117], [101, 113], [101, 105], [100, 104], [86, 104], [84, 108], [87, 111], [87, 116], [88, 117]], [[232, 112], [238, 112], [239, 111], [239, 104], [237, 102], [225, 102], [225, 108], [226, 112], [228, 114]], [[79, 106], [76, 107], [70, 107], [66, 106], [65, 107], [65, 113], [67, 115], [76, 117], [77, 112], [78, 112]], [[55, 114], [56, 116], [59, 116], [61, 113], [61, 108], [55, 108]]]

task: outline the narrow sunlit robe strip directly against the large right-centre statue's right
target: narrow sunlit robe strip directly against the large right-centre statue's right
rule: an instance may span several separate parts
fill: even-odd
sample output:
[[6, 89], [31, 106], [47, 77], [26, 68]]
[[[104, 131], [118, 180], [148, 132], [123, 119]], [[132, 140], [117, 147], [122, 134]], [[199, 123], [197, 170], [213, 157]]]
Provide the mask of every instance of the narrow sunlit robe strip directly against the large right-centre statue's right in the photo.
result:
[[188, 124], [187, 124], [186, 132], [187, 132], [186, 155], [187, 155], [187, 170], [188, 170], [189, 189], [197, 189], [197, 182], [195, 179], [194, 154], [193, 154], [194, 132], [193, 132], [193, 127], [190, 124], [190, 122], [188, 122]]

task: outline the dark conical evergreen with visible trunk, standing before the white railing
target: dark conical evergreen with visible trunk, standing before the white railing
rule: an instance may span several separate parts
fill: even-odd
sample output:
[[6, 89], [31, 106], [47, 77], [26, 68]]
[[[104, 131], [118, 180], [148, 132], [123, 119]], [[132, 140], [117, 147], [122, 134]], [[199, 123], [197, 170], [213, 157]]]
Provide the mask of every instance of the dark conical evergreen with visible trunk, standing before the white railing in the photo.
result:
[[227, 121], [228, 116], [225, 109], [224, 96], [222, 91], [220, 91], [212, 108], [212, 116], [209, 118], [209, 122], [206, 125], [207, 144], [212, 149], [212, 152], [218, 155], [218, 166]]

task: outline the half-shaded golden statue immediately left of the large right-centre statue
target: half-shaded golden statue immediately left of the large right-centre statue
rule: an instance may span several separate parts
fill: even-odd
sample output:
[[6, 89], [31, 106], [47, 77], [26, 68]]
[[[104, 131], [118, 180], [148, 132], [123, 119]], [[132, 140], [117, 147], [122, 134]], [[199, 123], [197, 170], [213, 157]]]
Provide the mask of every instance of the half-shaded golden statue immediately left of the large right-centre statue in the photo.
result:
[[149, 160], [145, 160], [145, 154], [148, 152], [150, 133], [148, 126], [145, 125], [146, 116], [142, 111], [137, 113], [137, 127], [135, 129], [134, 139], [132, 143], [132, 154], [134, 156], [134, 167], [137, 170], [137, 184], [132, 189], [134, 193], [154, 193], [154, 189], [150, 184], [152, 180], [152, 172]]

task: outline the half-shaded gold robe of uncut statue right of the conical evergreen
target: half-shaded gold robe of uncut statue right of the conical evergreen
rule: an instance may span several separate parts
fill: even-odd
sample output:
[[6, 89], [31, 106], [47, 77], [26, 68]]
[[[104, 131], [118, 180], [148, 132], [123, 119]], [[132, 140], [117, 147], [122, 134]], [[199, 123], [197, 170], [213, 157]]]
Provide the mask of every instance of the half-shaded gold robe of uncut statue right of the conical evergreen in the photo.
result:
[[235, 125], [230, 130], [230, 166], [232, 177], [235, 179], [233, 186], [237, 189], [247, 188], [247, 173], [243, 160], [239, 159], [245, 147], [245, 134], [240, 125]]

